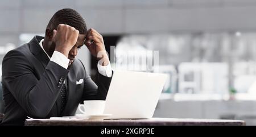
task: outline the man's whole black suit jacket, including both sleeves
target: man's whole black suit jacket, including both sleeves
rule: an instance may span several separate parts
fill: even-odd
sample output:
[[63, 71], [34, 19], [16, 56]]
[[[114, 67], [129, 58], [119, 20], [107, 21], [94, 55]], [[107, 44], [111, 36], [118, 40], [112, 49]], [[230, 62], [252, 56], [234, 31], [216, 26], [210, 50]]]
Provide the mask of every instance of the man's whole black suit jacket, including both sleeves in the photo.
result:
[[[75, 59], [69, 69], [49, 61], [40, 47], [42, 36], [10, 52], [3, 58], [2, 86], [5, 117], [2, 125], [23, 125], [26, 117], [49, 118], [74, 115], [80, 102], [105, 99], [111, 78], [98, 73], [98, 86], [86, 73], [84, 65]], [[60, 113], [60, 90], [67, 80], [67, 103]], [[76, 81], [84, 82], [76, 85]]]

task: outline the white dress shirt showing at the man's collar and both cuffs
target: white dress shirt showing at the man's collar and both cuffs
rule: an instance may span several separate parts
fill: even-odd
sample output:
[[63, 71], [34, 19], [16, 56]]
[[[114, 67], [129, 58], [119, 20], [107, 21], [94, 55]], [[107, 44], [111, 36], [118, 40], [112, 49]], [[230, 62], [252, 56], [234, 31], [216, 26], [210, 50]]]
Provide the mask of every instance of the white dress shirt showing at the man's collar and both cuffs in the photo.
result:
[[[43, 41], [44, 41], [44, 39], [42, 39], [40, 41], [39, 45], [43, 49], [44, 53], [46, 53], [46, 51], [43, 48]], [[47, 53], [46, 53], [46, 55], [48, 56], [49, 60], [55, 62], [56, 64], [59, 64], [61, 67], [65, 68], [65, 69], [68, 68], [69, 59], [68, 59], [68, 57], [63, 55], [63, 53], [54, 51], [52, 54], [52, 57], [50, 57]], [[102, 66], [98, 62], [97, 67], [98, 67], [98, 72], [101, 73], [103, 76], [112, 77], [112, 68], [111, 68], [110, 63], [106, 66]]]

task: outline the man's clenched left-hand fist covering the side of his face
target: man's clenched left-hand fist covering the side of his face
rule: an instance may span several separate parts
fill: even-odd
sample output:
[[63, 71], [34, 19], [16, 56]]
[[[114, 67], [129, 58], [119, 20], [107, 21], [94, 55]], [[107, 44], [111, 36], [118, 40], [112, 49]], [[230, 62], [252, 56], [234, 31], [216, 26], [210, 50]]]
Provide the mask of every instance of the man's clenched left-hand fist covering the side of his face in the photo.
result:
[[57, 30], [53, 30], [53, 41], [55, 41], [55, 51], [63, 53], [68, 57], [69, 51], [76, 44], [79, 31], [67, 24], [59, 24]]

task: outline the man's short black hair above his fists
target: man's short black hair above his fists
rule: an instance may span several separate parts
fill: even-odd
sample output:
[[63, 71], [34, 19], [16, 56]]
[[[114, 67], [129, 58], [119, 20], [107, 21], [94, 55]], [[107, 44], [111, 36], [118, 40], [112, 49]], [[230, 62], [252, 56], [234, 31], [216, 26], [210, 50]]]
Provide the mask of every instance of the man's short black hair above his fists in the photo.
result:
[[86, 34], [86, 23], [82, 16], [73, 9], [61, 9], [57, 11], [49, 20], [47, 28], [57, 29], [59, 24], [67, 24], [79, 30], [79, 34]]

